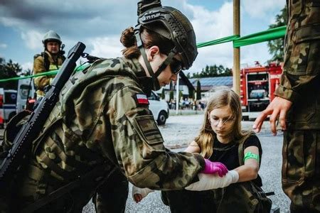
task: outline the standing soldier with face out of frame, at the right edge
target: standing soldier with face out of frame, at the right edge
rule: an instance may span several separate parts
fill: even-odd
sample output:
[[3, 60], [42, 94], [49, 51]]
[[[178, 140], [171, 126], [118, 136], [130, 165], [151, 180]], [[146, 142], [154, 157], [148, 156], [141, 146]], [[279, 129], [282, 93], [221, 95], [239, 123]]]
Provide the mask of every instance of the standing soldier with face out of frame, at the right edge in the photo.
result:
[[284, 131], [282, 188], [292, 212], [320, 212], [320, 1], [287, 0], [284, 72], [268, 114], [272, 132]]

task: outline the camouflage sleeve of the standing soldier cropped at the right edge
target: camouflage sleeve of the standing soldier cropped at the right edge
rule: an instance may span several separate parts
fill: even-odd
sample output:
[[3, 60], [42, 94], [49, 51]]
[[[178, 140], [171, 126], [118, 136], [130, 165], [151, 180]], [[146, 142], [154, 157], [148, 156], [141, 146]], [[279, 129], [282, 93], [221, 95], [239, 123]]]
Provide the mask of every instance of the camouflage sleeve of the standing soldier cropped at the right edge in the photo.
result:
[[[297, 3], [299, 5], [300, 3]], [[284, 72], [275, 94], [291, 102], [319, 87], [319, 7], [306, 4], [291, 11], [284, 45]], [[317, 23], [317, 24], [315, 24]]]

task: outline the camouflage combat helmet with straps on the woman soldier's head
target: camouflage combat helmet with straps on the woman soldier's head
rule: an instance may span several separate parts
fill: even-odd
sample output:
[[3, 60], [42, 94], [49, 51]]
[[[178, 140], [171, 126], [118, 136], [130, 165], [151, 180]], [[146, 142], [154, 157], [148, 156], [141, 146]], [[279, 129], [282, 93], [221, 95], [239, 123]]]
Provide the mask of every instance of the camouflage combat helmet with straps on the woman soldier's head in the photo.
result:
[[[137, 39], [137, 46], [144, 57], [149, 74], [158, 77], [160, 72], [155, 74], [151, 70], [146, 54], [144, 53], [143, 43], [140, 38], [141, 27], [159, 33], [174, 43], [174, 48], [170, 51], [167, 60], [172, 60], [178, 54], [182, 60], [182, 70], [188, 70], [193, 61], [196, 60], [198, 50], [196, 47], [196, 35], [193, 27], [186, 16], [170, 6], [161, 6], [160, 0], [142, 0], [138, 2], [138, 24], [134, 28]], [[170, 62], [167, 62], [169, 65]], [[159, 82], [156, 85], [159, 87]], [[157, 88], [156, 88], [157, 89]]]

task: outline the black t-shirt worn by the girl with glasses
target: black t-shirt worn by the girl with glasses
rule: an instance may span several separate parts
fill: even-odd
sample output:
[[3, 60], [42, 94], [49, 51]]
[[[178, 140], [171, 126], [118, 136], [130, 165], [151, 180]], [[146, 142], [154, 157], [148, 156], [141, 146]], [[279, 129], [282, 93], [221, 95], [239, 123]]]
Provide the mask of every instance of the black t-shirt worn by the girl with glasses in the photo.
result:
[[[259, 157], [260, 161], [262, 158], [262, 148], [261, 143], [259, 141], [259, 138], [257, 136], [249, 136], [245, 143], [243, 144], [243, 151], [245, 151], [245, 148], [249, 146], [257, 146], [259, 149]], [[213, 141], [213, 154], [210, 156], [209, 160], [211, 161], [218, 161], [220, 163], [223, 163], [228, 170], [233, 170], [235, 168], [238, 168], [240, 166], [239, 164], [239, 155], [238, 155], [238, 143], [220, 143], [218, 141], [218, 138], [215, 137]], [[253, 180], [257, 185], [262, 186], [262, 180], [260, 176]]]

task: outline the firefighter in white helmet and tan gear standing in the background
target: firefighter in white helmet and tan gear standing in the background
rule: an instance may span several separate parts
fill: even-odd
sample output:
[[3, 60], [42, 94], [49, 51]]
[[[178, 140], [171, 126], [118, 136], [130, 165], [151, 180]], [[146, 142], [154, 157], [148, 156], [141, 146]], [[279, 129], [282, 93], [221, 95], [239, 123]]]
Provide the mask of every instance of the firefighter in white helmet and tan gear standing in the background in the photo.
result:
[[[48, 31], [42, 40], [45, 48], [44, 52], [37, 54], [33, 61], [33, 72], [39, 74], [41, 72], [48, 72], [51, 70], [58, 70], [65, 60], [64, 52], [60, 50], [61, 39], [54, 31]], [[43, 89], [49, 85], [55, 75], [35, 77], [34, 84], [37, 87], [37, 95], [43, 96]]]

